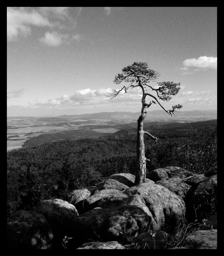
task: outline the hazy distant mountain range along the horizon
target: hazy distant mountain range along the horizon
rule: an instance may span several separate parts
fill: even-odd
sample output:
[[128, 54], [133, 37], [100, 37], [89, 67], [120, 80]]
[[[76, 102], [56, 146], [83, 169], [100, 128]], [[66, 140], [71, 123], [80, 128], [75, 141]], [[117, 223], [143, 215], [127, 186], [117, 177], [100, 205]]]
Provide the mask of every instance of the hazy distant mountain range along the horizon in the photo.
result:
[[[101, 112], [93, 114], [81, 115], [63, 115], [57, 117], [32, 117], [32, 116], [17, 116], [7, 117], [7, 124], [23, 123], [66, 123], [66, 122], [84, 122], [95, 123], [96, 120], [102, 122], [130, 123], [137, 122], [140, 116], [139, 112]], [[176, 111], [175, 115], [168, 115], [163, 110], [148, 111], [145, 122], [198, 122], [217, 119], [217, 110], [193, 110], [193, 111]], [[77, 123], [78, 124], [78, 123]], [[112, 123], [111, 123], [112, 124]]]

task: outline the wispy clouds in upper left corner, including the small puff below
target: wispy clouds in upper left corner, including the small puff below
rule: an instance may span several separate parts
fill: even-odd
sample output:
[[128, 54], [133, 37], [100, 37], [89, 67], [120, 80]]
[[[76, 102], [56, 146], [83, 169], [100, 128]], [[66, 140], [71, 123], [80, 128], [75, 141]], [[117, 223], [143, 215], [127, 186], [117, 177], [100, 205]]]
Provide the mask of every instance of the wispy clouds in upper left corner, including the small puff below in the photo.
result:
[[79, 42], [81, 35], [74, 29], [80, 13], [81, 7], [7, 7], [7, 41], [29, 35], [35, 27], [50, 27], [57, 32], [46, 32], [41, 42], [51, 46]]

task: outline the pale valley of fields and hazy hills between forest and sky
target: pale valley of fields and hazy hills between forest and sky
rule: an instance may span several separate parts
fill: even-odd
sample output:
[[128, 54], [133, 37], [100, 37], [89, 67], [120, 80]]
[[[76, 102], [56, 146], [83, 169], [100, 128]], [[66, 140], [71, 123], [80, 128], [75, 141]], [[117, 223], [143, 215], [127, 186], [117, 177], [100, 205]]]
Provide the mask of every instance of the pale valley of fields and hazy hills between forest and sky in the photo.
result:
[[[101, 112], [57, 117], [7, 117], [7, 151], [59, 140], [102, 137], [137, 127], [139, 112]], [[217, 111], [148, 111], [145, 125], [191, 123], [217, 119]], [[15, 136], [16, 135], [16, 136]]]

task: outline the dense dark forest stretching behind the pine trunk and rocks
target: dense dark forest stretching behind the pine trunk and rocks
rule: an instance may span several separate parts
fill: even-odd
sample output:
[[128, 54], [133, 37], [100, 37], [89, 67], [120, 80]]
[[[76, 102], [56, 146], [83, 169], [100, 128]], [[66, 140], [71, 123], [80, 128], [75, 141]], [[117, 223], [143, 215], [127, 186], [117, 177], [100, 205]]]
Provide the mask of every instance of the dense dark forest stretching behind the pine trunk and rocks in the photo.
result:
[[[50, 198], [95, 186], [108, 175], [135, 174], [136, 128], [102, 137], [41, 143], [7, 152], [7, 217]], [[192, 123], [145, 123], [158, 138], [145, 137], [147, 172], [180, 166], [204, 173], [217, 164], [217, 120]]]

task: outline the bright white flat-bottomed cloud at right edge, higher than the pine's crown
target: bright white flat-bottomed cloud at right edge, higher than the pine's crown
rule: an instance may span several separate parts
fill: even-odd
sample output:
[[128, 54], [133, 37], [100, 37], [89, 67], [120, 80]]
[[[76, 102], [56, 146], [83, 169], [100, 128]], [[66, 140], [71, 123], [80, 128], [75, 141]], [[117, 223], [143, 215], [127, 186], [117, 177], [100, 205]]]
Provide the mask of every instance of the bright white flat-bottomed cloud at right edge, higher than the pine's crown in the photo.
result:
[[190, 67], [197, 68], [194, 71], [198, 71], [201, 68], [217, 69], [217, 57], [201, 56], [199, 58], [191, 58], [183, 61], [181, 70], [188, 70]]

